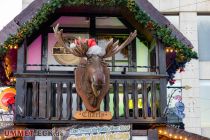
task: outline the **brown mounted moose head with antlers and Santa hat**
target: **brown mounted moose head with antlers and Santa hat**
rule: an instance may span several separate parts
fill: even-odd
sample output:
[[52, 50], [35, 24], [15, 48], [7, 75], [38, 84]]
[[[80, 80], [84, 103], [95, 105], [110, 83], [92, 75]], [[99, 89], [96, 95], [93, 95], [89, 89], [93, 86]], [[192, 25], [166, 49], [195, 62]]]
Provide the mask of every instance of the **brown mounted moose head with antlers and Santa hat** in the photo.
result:
[[104, 61], [126, 47], [136, 37], [137, 32], [130, 33], [129, 37], [121, 44], [110, 39], [105, 52], [95, 43], [94, 39], [77, 39], [68, 44], [63, 39], [63, 30], [58, 30], [59, 24], [53, 28], [58, 43], [71, 54], [87, 59], [81, 59], [75, 70], [75, 84], [77, 94], [82, 98], [87, 111], [99, 111], [100, 104], [109, 90], [109, 69]]

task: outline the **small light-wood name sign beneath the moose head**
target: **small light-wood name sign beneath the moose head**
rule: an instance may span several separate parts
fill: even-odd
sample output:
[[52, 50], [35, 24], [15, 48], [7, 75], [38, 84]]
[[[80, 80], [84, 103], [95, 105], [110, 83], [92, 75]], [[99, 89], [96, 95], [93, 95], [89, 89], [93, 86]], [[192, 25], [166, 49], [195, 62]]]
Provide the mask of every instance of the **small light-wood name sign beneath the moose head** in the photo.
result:
[[77, 120], [111, 120], [112, 114], [104, 111], [76, 111], [74, 118]]

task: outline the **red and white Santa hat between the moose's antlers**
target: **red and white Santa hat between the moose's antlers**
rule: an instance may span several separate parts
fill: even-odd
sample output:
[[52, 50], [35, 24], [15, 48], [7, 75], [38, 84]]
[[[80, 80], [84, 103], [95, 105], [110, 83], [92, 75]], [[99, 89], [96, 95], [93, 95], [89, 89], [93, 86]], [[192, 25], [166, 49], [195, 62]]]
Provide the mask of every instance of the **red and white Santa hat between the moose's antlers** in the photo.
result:
[[99, 47], [97, 44], [96, 44], [96, 41], [95, 39], [91, 38], [91, 39], [88, 39], [88, 51], [86, 53], [87, 55], [100, 55], [102, 56], [104, 53], [103, 53], [103, 50], [101, 47]]

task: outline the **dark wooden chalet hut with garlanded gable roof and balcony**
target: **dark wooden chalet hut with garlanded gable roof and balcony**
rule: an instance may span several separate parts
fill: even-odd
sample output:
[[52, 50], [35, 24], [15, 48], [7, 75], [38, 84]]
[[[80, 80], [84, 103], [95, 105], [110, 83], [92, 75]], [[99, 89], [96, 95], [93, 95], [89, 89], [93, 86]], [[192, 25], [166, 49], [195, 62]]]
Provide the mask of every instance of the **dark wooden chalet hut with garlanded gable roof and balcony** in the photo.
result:
[[[85, 106], [75, 90], [74, 69], [80, 58], [56, 42], [53, 27], [60, 24], [65, 39], [95, 38], [104, 47], [110, 38], [123, 42], [137, 37], [106, 59], [110, 90], [101, 103], [112, 120], [75, 120]], [[49, 129], [71, 126], [128, 125], [130, 138], [158, 138], [166, 125], [166, 85], [197, 54], [183, 36], [147, 0], [35, 0], [0, 32], [1, 62], [9, 63], [4, 84], [16, 81], [15, 125]], [[120, 44], [119, 43], [119, 44]], [[5, 62], [6, 63], [6, 62]], [[16, 80], [14, 80], [14, 78]], [[11, 81], [11, 78], [13, 80]]]

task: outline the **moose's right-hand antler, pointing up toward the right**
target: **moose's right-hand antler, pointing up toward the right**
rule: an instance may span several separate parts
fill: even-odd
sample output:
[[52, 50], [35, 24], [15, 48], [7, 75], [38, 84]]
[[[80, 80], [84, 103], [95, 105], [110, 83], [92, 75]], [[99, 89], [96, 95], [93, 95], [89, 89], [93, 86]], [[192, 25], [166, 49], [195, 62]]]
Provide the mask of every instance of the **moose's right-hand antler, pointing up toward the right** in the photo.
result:
[[118, 53], [120, 50], [122, 50], [124, 47], [126, 47], [129, 43], [133, 41], [133, 39], [136, 37], [137, 31], [135, 30], [133, 33], [130, 33], [129, 37], [119, 46], [119, 40], [113, 43], [113, 38], [110, 39], [106, 46], [106, 54], [103, 56], [103, 58], [111, 57], [114, 54]]

